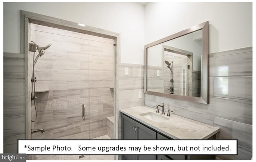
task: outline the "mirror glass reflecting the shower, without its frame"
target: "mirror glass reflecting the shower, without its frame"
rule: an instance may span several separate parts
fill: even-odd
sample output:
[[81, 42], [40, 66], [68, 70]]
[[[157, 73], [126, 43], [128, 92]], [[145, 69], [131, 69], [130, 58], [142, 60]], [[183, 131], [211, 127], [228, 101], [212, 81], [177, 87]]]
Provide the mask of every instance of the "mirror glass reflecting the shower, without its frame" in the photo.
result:
[[201, 96], [202, 30], [147, 48], [147, 89]]

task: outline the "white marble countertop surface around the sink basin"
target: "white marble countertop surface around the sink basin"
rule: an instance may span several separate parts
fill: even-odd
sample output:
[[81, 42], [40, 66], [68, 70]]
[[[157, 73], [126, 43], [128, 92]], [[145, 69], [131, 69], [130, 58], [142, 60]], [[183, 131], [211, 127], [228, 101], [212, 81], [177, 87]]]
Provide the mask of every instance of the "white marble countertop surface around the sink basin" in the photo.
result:
[[[145, 117], [140, 116], [142, 113], [156, 113], [156, 109], [147, 106], [121, 109], [120, 112], [145, 125], [150, 126], [158, 132], [161, 132], [162, 134], [165, 134], [166, 136], [169, 136], [173, 139], [207, 139], [220, 131], [220, 128], [218, 127], [174, 115], [172, 113], [170, 113], [171, 116], [168, 117], [169, 120], [163, 122], [151, 121]], [[161, 111], [160, 113], [156, 114], [160, 115]], [[167, 116], [164, 115], [164, 117]]]

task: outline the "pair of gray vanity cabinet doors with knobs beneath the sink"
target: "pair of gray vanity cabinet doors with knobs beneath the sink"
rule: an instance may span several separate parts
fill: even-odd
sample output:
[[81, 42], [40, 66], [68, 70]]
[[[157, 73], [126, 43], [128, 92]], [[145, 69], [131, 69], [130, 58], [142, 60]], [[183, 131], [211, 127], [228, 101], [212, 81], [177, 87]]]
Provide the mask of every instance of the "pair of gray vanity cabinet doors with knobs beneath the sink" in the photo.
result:
[[[156, 132], [122, 114], [123, 140], [155, 140]], [[123, 155], [124, 160], [156, 160], [156, 155]]]

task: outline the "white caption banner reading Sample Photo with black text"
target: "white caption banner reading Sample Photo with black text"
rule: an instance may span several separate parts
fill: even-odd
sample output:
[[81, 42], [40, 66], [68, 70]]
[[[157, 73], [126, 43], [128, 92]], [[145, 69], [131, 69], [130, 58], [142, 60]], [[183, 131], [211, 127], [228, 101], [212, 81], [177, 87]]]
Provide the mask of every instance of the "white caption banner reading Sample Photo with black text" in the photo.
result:
[[18, 140], [27, 155], [236, 155], [237, 140]]

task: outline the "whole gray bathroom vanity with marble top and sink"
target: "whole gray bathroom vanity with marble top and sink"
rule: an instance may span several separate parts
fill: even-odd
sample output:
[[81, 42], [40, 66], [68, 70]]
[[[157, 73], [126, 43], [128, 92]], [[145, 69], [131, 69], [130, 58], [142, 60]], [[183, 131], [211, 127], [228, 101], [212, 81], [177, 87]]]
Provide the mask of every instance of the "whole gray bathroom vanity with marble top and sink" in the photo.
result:
[[[156, 113], [147, 106], [121, 109], [122, 139], [175, 140], [215, 139], [220, 128], [178, 115]], [[167, 114], [167, 113], [166, 113]], [[124, 160], [196, 160], [215, 159], [214, 155], [123, 155]]]

